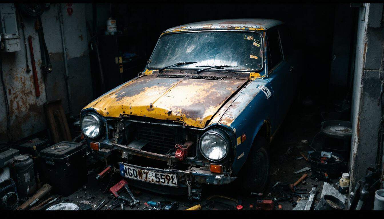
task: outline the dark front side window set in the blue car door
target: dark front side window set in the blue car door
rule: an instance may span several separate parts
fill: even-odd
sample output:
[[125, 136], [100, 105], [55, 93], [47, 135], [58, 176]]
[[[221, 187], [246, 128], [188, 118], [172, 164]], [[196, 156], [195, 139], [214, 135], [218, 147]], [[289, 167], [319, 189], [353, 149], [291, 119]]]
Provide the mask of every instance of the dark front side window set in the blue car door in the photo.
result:
[[277, 28], [267, 31], [266, 34], [268, 43], [268, 69], [272, 69], [283, 60], [283, 56], [281, 54]]

